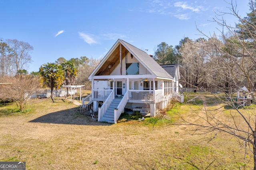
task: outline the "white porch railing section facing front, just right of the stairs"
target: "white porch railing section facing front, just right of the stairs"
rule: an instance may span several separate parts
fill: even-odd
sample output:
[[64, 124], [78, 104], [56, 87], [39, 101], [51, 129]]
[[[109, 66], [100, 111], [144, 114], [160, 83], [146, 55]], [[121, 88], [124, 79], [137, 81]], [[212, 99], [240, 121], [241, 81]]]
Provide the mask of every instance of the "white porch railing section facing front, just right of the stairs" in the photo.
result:
[[145, 103], [153, 102], [154, 95], [153, 90], [129, 90], [129, 102], [130, 103]]

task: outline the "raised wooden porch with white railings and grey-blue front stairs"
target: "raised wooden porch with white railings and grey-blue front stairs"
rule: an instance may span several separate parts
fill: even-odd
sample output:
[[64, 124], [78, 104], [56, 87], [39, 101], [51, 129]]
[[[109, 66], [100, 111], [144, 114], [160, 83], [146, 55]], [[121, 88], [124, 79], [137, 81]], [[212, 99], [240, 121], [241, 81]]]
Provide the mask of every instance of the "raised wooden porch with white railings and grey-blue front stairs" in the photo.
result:
[[[115, 95], [114, 90], [104, 89], [92, 90], [92, 94], [83, 98], [80, 106], [83, 111], [90, 109], [93, 101], [103, 102], [103, 105], [98, 108], [98, 121], [107, 121], [109, 123], [116, 123], [124, 107], [127, 103], [138, 104], [156, 104], [176, 98], [179, 102], [182, 101], [182, 96], [176, 92], [170, 94], [163, 94], [163, 90], [127, 90], [124, 95]], [[114, 102], [113, 102], [114, 101]], [[118, 101], [118, 103], [116, 103]], [[110, 109], [111, 107], [111, 109]], [[95, 109], [95, 108], [94, 108]], [[107, 114], [106, 119], [104, 115]], [[105, 115], [106, 116], [106, 115]]]

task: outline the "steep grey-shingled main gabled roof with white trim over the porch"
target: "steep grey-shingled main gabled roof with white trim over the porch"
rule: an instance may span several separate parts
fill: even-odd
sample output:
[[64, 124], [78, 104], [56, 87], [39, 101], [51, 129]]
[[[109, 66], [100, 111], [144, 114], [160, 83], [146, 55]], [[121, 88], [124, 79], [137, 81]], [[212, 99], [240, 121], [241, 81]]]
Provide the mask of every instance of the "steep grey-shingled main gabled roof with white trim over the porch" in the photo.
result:
[[[174, 79], [168, 72], [166, 72], [150, 55], [148, 55], [146, 52], [138, 49], [137, 47], [134, 47], [133, 45], [118, 39], [116, 43], [113, 45], [113, 47], [110, 49], [110, 51], [106, 54], [106, 56], [102, 59], [100, 64], [94, 69], [94, 71], [90, 74], [89, 79], [92, 78], [93, 75], [95, 75], [100, 68], [104, 65], [106, 61], [108, 61], [108, 57], [116, 51], [118, 48], [118, 45], [121, 44], [122, 47], [124, 47], [126, 50], [128, 50], [147, 70], [151, 72], [151, 74], [154, 74], [157, 78], [168, 78], [168, 79]], [[122, 51], [123, 53], [123, 51]], [[108, 65], [108, 62], [106, 62]], [[105, 64], [105, 65], [106, 65]]]

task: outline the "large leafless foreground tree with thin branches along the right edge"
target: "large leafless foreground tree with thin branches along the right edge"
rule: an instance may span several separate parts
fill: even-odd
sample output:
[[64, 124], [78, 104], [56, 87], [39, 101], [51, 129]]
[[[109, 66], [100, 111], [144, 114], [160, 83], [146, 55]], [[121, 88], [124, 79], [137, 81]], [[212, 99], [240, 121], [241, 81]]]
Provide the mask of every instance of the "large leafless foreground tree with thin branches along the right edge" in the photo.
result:
[[[256, 18], [254, 10], [255, 0], [250, 0], [252, 12], [250, 15]], [[205, 98], [201, 98], [204, 107], [201, 111], [194, 111], [198, 121], [188, 121], [182, 117], [186, 125], [193, 125], [195, 133], [212, 133], [212, 140], [219, 133], [227, 133], [236, 137], [237, 141], [245, 147], [244, 158], [250, 162], [250, 156], [256, 170], [256, 110], [248, 109], [251, 103], [256, 103], [256, 27], [254, 21], [241, 18], [233, 1], [229, 12], [222, 12], [221, 19], [214, 19], [222, 29], [219, 29], [220, 38], [208, 36], [200, 31], [208, 41], [200, 46], [193, 44], [196, 51], [203, 51], [207, 56], [207, 64], [202, 62], [190, 62], [205, 72], [206, 77], [211, 78], [212, 85], [222, 89], [225, 94], [212, 94], [222, 104], [218, 109], [212, 110], [207, 106]], [[225, 15], [231, 15], [238, 19], [240, 25], [232, 26], [223, 19]], [[228, 34], [224, 32], [228, 31]], [[222, 41], [222, 43], [220, 43]], [[207, 47], [207, 48], [206, 48]], [[183, 60], [184, 61], [184, 60]], [[241, 91], [241, 96], [234, 96]], [[226, 110], [229, 106], [229, 111]]]

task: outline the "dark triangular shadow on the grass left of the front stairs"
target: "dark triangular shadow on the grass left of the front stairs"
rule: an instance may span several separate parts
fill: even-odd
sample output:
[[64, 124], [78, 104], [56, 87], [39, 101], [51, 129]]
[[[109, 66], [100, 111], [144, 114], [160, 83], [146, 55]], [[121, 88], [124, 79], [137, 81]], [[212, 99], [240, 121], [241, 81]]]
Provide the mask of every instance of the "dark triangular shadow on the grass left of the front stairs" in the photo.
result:
[[54, 123], [67, 125], [97, 125], [109, 126], [111, 123], [98, 122], [89, 115], [83, 115], [78, 108], [71, 108], [61, 111], [48, 113], [29, 122], [31, 123]]

